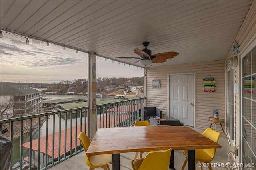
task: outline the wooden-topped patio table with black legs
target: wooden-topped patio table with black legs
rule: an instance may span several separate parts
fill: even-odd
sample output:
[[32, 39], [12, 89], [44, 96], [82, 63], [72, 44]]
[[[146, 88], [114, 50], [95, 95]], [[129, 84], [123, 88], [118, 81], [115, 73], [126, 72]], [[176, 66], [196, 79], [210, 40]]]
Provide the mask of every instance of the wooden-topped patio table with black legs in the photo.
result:
[[[188, 150], [188, 170], [195, 169], [195, 149], [221, 145], [186, 126], [136, 126], [98, 129], [86, 152], [88, 156], [113, 154], [113, 170], [120, 170], [120, 153]], [[173, 154], [170, 168], [174, 169]], [[157, 162], [156, 162], [157, 163]]]

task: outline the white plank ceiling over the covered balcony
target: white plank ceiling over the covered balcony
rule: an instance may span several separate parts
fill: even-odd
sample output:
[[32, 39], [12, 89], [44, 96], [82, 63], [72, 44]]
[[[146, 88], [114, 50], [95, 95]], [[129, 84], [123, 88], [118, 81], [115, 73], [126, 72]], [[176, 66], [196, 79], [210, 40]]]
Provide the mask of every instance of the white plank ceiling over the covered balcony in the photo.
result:
[[[225, 59], [252, 1], [0, 1], [0, 29], [134, 64], [134, 48], [177, 57], [153, 67]], [[141, 66], [141, 65], [139, 65]]]

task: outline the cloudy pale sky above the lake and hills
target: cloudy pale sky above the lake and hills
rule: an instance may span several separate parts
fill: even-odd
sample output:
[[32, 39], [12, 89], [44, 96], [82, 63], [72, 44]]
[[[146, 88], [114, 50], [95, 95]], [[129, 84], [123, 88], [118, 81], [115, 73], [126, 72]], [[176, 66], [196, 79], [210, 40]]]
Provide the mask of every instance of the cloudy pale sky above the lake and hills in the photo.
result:
[[[86, 79], [87, 53], [3, 32], [0, 38], [0, 81], [53, 83]], [[144, 69], [97, 59], [97, 77], [142, 77]]]

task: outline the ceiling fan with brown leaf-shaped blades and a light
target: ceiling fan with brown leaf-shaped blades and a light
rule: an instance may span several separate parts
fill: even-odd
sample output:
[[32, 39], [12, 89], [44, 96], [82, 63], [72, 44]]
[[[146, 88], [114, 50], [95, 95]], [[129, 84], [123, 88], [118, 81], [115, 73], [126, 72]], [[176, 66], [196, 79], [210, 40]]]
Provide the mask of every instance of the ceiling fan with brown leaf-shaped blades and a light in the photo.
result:
[[134, 63], [139, 62], [141, 65], [150, 65], [152, 63], [164, 63], [167, 61], [168, 58], [173, 58], [177, 56], [179, 53], [177, 52], [164, 52], [164, 53], [157, 53], [151, 55], [151, 50], [147, 49], [149, 42], [143, 42], [142, 45], [145, 49], [138, 49], [135, 48], [133, 51], [140, 57], [116, 57], [116, 58], [138, 58], [140, 60], [135, 61]]

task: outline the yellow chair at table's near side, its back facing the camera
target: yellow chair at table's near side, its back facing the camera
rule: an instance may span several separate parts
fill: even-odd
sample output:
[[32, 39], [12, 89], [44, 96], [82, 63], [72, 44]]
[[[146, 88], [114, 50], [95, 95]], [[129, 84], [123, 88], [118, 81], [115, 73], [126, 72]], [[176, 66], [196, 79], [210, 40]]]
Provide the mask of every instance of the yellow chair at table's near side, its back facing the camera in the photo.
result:
[[145, 158], [132, 160], [133, 170], [168, 170], [172, 149], [149, 152]]

